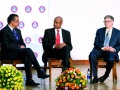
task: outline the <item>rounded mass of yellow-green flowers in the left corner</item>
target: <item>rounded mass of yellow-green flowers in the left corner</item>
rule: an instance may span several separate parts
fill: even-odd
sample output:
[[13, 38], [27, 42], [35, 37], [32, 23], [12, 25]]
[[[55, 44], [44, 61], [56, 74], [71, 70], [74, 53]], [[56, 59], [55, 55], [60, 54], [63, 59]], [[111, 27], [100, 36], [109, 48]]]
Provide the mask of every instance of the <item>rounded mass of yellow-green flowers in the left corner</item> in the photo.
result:
[[22, 89], [22, 73], [13, 66], [0, 66], [0, 90]]

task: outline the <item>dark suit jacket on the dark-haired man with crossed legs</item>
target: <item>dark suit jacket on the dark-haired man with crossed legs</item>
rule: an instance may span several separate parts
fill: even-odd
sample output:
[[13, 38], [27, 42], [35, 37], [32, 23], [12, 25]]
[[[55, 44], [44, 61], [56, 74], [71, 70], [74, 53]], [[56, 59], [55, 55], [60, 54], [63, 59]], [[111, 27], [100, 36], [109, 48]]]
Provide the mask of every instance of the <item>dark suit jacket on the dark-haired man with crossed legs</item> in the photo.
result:
[[5, 26], [0, 31], [0, 38], [1, 38], [1, 52], [2, 57], [5, 59], [15, 59], [17, 58], [17, 49], [19, 49], [20, 45], [25, 45], [21, 31], [18, 28], [15, 28], [15, 31], [19, 37], [19, 40], [17, 41], [13, 32], [9, 28], [9, 26]]

